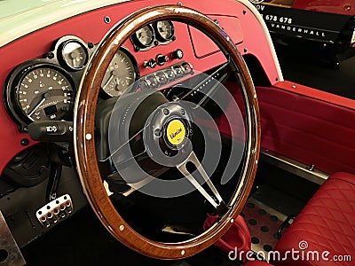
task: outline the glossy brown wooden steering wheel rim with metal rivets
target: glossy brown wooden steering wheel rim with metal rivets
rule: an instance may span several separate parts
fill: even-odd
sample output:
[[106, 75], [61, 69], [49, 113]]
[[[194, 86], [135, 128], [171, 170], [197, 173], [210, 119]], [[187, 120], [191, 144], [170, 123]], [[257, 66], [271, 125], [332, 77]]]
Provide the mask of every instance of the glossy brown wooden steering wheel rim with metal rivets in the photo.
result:
[[[246, 167], [243, 169], [241, 183], [236, 189], [235, 204], [208, 231], [194, 239], [178, 243], [162, 243], [146, 239], [123, 220], [108, 198], [102, 183], [94, 141], [96, 103], [106, 67], [114, 57], [115, 51], [122, 46], [122, 43], [130, 35], [139, 27], [144, 27], [158, 20], [175, 20], [192, 25], [205, 35], [208, 35], [212, 41], [217, 43], [221, 51], [229, 55], [233, 65], [236, 66], [239, 72], [248, 123]], [[99, 43], [99, 48], [95, 51], [84, 70], [83, 79], [77, 92], [74, 112], [75, 160], [83, 192], [106, 230], [125, 246], [129, 246], [140, 254], [158, 259], [181, 259], [201, 252], [217, 239], [220, 239], [232, 226], [237, 215], [241, 213], [256, 175], [260, 149], [260, 123], [256, 91], [248, 73], [248, 67], [233, 41], [221, 27], [217, 26], [215, 22], [205, 15], [184, 6], [169, 4], [134, 12], [117, 23]]]

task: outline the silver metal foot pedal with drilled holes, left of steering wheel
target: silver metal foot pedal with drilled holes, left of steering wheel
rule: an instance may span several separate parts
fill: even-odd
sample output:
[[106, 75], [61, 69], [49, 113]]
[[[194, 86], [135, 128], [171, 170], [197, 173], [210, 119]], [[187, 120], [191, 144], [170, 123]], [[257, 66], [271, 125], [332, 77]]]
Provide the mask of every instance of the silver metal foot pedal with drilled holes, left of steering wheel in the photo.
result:
[[50, 227], [53, 223], [58, 223], [73, 211], [73, 202], [68, 194], [65, 194], [47, 203], [36, 211], [36, 217], [43, 227]]

